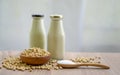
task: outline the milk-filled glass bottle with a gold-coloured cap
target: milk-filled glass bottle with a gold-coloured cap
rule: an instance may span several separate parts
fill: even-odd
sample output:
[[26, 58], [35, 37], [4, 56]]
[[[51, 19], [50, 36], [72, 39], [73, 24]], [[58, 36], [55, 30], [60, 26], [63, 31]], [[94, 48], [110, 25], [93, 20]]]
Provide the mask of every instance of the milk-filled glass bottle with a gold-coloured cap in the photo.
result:
[[65, 51], [65, 34], [62, 15], [51, 15], [51, 25], [47, 36], [48, 51], [53, 59], [63, 59]]

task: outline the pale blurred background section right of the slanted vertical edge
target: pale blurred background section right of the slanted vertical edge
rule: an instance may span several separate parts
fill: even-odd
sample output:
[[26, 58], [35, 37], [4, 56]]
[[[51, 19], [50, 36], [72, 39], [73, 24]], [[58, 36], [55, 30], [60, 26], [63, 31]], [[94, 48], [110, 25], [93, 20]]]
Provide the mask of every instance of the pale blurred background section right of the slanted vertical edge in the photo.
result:
[[120, 0], [87, 0], [84, 51], [120, 51]]

